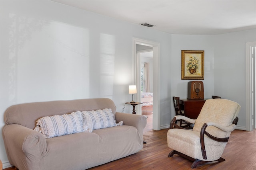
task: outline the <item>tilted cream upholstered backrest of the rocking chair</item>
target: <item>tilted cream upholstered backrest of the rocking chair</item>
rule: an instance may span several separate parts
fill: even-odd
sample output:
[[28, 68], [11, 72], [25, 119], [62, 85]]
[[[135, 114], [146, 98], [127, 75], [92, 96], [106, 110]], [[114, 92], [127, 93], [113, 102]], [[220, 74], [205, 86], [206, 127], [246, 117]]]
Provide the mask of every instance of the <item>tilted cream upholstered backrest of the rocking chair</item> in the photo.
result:
[[[232, 125], [233, 120], [237, 117], [241, 106], [227, 99], [209, 99], [206, 100], [204, 106], [201, 109], [196, 123], [194, 125], [193, 131], [201, 131], [204, 123], [218, 123], [222, 126]], [[224, 132], [220, 129], [209, 126], [206, 131], [215, 137], [228, 137], [231, 132]]]

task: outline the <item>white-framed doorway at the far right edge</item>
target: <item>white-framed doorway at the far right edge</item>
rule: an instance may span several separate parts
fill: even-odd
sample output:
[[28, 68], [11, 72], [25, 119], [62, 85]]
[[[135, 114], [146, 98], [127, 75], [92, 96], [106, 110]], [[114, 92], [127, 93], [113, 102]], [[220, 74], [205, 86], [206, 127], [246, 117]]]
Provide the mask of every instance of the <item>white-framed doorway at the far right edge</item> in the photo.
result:
[[246, 43], [246, 130], [256, 129], [256, 42]]

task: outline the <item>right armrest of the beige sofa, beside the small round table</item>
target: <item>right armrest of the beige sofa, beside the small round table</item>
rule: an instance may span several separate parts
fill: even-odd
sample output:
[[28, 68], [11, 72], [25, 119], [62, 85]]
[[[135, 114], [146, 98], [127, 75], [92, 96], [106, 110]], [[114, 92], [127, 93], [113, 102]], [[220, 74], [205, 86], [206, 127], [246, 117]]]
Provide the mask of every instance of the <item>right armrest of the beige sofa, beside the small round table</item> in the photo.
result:
[[138, 129], [141, 136], [143, 136], [143, 129], [147, 125], [147, 120], [144, 115], [135, 115], [129, 113], [116, 112], [116, 122], [123, 121], [123, 125], [134, 126]]

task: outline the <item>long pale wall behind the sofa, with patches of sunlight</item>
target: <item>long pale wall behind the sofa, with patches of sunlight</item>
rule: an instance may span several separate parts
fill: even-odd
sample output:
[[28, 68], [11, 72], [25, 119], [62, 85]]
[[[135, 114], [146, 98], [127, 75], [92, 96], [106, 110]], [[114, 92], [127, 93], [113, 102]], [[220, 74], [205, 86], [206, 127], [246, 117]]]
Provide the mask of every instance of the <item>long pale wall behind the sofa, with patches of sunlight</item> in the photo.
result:
[[[25, 102], [106, 97], [122, 111], [131, 98], [133, 37], [160, 43], [159, 71], [170, 72], [170, 34], [48, 0], [0, 3], [1, 133], [4, 111]], [[165, 115], [170, 115], [169, 82], [169, 76], [161, 77]], [[2, 135], [0, 159], [7, 168]]]

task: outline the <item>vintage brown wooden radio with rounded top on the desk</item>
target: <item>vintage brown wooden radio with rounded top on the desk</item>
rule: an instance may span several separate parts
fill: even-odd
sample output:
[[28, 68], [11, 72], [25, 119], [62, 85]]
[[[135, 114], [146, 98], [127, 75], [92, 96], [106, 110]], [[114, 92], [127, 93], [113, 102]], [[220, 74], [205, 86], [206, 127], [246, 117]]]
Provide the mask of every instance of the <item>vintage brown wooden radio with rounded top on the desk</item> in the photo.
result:
[[204, 83], [202, 81], [188, 82], [188, 99], [204, 99]]

